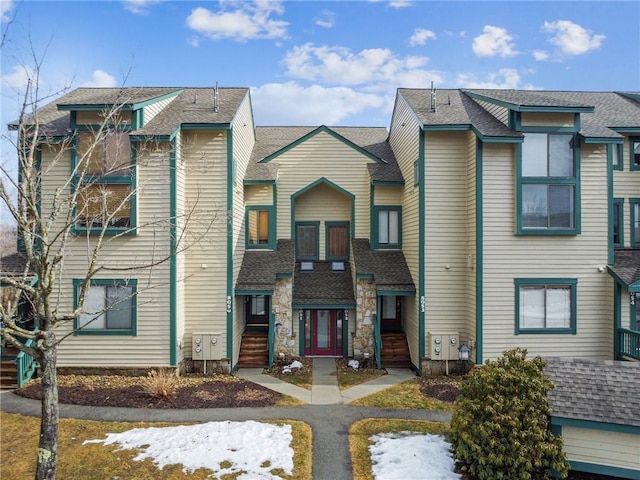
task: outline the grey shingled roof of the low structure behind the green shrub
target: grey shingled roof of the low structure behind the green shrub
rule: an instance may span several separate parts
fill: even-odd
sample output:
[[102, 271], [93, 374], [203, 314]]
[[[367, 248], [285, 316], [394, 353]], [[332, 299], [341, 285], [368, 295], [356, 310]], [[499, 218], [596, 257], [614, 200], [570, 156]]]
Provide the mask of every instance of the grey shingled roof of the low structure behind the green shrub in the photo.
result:
[[546, 358], [553, 417], [640, 428], [640, 363]]

